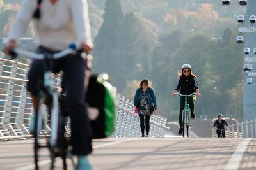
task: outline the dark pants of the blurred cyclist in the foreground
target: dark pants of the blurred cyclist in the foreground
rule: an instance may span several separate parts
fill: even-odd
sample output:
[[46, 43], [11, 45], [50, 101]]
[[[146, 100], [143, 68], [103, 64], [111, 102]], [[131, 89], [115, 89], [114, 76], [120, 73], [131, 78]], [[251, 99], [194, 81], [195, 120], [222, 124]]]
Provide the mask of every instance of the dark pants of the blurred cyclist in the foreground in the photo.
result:
[[[38, 47], [37, 53], [50, 52], [45, 48]], [[71, 118], [71, 144], [74, 155], [88, 155], [92, 152], [92, 130], [88, 118], [85, 103], [85, 73], [86, 60], [77, 55], [68, 55], [54, 60], [52, 72], [63, 71], [65, 76], [65, 90], [67, 107]], [[28, 73], [28, 92], [37, 96], [40, 83], [44, 74], [44, 61], [33, 60]]]

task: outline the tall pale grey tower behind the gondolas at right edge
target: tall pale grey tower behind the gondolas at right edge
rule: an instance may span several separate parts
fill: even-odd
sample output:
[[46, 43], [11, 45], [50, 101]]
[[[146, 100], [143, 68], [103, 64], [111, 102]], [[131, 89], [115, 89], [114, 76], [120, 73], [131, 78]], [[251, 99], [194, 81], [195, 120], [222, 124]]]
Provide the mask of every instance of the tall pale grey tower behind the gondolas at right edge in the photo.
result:
[[[244, 71], [243, 93], [243, 121], [256, 118], [256, 1], [248, 0], [244, 27], [238, 31], [244, 36], [244, 64], [248, 64], [248, 71]], [[253, 17], [254, 16], [254, 17]], [[249, 52], [248, 52], [248, 49]], [[244, 65], [246, 66], [246, 65]], [[251, 67], [251, 68], [250, 68]]]

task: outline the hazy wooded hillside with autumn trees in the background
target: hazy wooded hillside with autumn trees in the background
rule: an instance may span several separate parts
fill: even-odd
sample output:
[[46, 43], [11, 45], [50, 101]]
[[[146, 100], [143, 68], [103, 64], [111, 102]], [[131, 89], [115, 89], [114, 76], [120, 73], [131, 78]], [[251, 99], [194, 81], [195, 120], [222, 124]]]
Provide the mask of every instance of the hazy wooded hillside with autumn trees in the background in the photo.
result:
[[[18, 0], [0, 0], [1, 37], [19, 10]], [[171, 97], [177, 71], [190, 63], [202, 97], [196, 115], [241, 118], [242, 49], [236, 44], [236, 16], [244, 8], [211, 0], [90, 0], [93, 73], [106, 72], [119, 92], [132, 99], [142, 78], [152, 81], [159, 113], [179, 115]], [[26, 36], [34, 36], [29, 27]], [[229, 115], [228, 115], [229, 114]]]

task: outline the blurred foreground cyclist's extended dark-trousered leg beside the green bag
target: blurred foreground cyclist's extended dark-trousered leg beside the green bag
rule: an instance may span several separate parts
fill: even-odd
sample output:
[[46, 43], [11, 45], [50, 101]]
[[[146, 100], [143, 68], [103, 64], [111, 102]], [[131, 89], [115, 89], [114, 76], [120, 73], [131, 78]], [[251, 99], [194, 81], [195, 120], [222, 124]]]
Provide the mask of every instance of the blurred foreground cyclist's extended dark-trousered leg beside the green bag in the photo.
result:
[[68, 57], [63, 64], [71, 117], [72, 153], [83, 157], [92, 152], [92, 131], [84, 102], [85, 71], [86, 61], [78, 56]]

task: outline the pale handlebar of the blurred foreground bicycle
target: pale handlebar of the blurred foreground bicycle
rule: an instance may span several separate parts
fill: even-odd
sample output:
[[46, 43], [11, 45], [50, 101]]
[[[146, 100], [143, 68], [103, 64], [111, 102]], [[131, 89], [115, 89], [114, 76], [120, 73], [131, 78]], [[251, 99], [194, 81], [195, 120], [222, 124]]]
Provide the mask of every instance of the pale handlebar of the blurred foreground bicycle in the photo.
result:
[[[70, 46], [67, 49], [65, 49], [61, 52], [52, 54], [52, 57], [53, 57], [53, 59], [59, 59], [61, 57], [64, 57], [65, 55], [68, 55], [68, 54], [71, 54], [74, 52], [83, 52], [83, 50], [77, 49], [76, 45], [74, 45], [74, 44], [70, 44]], [[42, 54], [42, 53], [33, 53], [33, 52], [29, 52], [27, 50], [22, 50], [20, 48], [13, 48], [11, 50], [11, 54], [10, 54], [12, 56], [12, 58], [16, 58], [17, 54], [25, 55], [26, 57], [29, 57], [32, 59], [44, 59], [45, 58], [45, 54]]]

